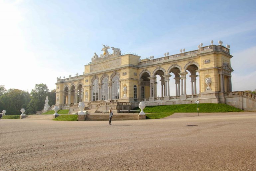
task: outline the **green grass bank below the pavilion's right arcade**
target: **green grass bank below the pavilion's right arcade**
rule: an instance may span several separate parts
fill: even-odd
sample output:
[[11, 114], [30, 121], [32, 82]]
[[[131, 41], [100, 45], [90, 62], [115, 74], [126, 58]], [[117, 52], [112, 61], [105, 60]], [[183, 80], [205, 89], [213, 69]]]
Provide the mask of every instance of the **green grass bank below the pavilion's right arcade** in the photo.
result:
[[[216, 104], [216, 103], [201, 103], [198, 105], [199, 112], [241, 112], [243, 110], [237, 109], [235, 107], [226, 104]], [[197, 104], [187, 104], [187, 105], [163, 105], [163, 106], [146, 106], [143, 110], [145, 113], [155, 113], [155, 112], [197, 112]], [[139, 110], [139, 107], [135, 108]]]

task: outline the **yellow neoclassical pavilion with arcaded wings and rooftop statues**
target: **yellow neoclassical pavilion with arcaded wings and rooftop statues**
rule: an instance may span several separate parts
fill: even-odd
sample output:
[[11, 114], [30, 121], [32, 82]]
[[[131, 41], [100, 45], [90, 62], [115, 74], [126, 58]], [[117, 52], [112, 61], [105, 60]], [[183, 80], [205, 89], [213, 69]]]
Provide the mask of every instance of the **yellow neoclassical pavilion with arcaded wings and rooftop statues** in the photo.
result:
[[[154, 56], [141, 59], [131, 52], [121, 54], [121, 50], [115, 47], [111, 47], [113, 52], [110, 53], [109, 48], [103, 45], [103, 54], [94, 53], [82, 75], [57, 78], [56, 106], [69, 109], [71, 113], [76, 110], [77, 103], [84, 102], [87, 109], [118, 112], [131, 110], [141, 101], [151, 106], [190, 104], [199, 100], [200, 103], [255, 108], [254, 103], [246, 103], [246, 99], [252, 99], [249, 95], [232, 92], [232, 55], [229, 45], [224, 47], [222, 42], [219, 45], [198, 45], [196, 50], [184, 52], [184, 49], [179, 54], [167, 53], [156, 59]], [[157, 93], [157, 75], [161, 93]], [[171, 79], [175, 80], [174, 89], [170, 89]], [[191, 82], [190, 86], [188, 82]], [[188, 89], [191, 94], [187, 94]], [[175, 96], [170, 96], [170, 92], [175, 92]]]

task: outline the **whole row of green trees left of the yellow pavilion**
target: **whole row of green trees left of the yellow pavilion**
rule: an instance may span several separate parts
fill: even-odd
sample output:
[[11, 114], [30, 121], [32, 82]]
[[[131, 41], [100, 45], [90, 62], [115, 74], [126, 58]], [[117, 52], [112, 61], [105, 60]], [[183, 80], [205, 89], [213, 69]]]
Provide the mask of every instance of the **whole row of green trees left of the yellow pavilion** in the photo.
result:
[[0, 85], [0, 113], [6, 110], [7, 115], [19, 115], [21, 108], [25, 108], [26, 114], [35, 114], [44, 109], [46, 96], [48, 104], [55, 105], [56, 89], [49, 91], [46, 84], [36, 84], [30, 93], [19, 89], [6, 90]]

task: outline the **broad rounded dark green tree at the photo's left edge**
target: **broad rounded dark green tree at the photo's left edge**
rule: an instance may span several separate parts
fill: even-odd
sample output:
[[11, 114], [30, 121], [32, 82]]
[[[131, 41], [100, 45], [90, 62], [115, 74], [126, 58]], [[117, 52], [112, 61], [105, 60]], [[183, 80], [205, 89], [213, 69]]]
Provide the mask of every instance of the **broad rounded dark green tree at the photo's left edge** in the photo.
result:
[[19, 115], [21, 114], [21, 108], [27, 109], [29, 102], [29, 92], [19, 89], [9, 89], [0, 96], [0, 111], [6, 110], [7, 115]]

